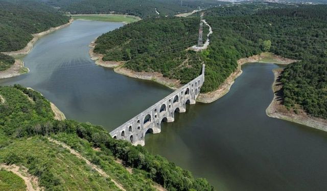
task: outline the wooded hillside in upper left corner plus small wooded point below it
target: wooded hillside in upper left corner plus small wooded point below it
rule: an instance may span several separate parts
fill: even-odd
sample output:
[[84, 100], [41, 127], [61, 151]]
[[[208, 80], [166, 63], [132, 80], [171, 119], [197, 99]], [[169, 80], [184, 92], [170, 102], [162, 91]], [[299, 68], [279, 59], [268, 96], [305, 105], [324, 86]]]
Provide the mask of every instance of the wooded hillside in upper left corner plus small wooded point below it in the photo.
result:
[[[24, 48], [33, 33], [67, 23], [69, 17], [36, 1], [0, 0], [0, 52]], [[0, 53], [0, 71], [8, 69], [13, 59]]]

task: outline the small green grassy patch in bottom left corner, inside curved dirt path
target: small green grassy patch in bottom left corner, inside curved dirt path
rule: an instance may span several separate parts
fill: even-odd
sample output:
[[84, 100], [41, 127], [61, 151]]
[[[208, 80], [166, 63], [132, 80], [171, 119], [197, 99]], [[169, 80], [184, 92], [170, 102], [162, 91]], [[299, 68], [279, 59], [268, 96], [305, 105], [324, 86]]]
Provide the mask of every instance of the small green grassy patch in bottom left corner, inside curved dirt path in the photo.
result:
[[14, 173], [0, 170], [0, 189], [7, 191], [25, 191], [26, 185], [24, 180]]

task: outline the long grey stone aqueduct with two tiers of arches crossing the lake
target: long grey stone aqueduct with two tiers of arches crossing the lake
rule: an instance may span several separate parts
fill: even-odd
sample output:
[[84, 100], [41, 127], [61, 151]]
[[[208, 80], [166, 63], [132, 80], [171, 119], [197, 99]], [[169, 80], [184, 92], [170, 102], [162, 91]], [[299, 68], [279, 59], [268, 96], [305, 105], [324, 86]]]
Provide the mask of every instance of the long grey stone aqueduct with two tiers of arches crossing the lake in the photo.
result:
[[147, 132], [159, 133], [161, 122], [173, 122], [176, 112], [183, 113], [186, 111], [186, 104], [195, 104], [203, 85], [204, 68], [205, 65], [203, 64], [201, 75], [188, 84], [111, 131], [111, 137], [129, 141], [133, 145], [144, 146], [144, 137]]

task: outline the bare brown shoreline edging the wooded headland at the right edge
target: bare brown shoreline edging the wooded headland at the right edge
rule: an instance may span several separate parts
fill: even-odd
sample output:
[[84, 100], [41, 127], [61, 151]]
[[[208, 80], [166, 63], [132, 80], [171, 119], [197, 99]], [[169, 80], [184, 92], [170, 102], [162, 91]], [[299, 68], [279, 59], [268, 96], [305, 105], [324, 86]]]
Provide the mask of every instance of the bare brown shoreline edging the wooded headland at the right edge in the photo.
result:
[[327, 120], [317, 117], [311, 117], [303, 110], [300, 110], [298, 112], [299, 114], [295, 114], [293, 111], [288, 111], [287, 108], [282, 105], [281, 101], [278, 100], [278, 91], [281, 90], [283, 87], [281, 84], [278, 84], [278, 77], [282, 71], [283, 69], [280, 68], [273, 70], [274, 82], [271, 88], [273, 90], [274, 97], [266, 109], [267, 116], [327, 131]]

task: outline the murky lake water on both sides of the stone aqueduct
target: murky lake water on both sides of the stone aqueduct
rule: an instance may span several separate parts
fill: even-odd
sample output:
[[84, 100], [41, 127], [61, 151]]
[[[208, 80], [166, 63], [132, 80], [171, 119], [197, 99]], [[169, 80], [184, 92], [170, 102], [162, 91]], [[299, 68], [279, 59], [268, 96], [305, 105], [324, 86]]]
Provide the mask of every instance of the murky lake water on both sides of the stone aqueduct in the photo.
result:
[[[2, 79], [41, 92], [68, 119], [118, 127], [172, 90], [96, 66], [89, 43], [121, 23], [74, 21], [37, 41], [30, 73]], [[273, 64], [246, 64], [230, 92], [190, 105], [146, 148], [204, 177], [219, 190], [326, 190], [327, 133], [269, 118]]]

